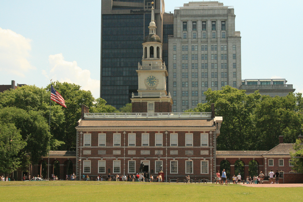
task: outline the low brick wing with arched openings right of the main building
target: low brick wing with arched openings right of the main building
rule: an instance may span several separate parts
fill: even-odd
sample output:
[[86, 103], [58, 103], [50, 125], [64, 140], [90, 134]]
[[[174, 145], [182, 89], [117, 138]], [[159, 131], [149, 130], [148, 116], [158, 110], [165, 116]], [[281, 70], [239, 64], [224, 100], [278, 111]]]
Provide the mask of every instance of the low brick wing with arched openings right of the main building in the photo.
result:
[[[301, 138], [301, 136], [299, 136]], [[269, 172], [272, 170], [280, 173], [279, 183], [303, 183], [303, 174], [296, 173], [293, 170], [290, 152], [294, 151], [294, 144], [284, 144], [283, 136], [279, 136], [279, 143], [276, 147], [269, 151], [217, 151], [217, 170], [230, 171], [229, 179], [235, 174], [236, 161], [242, 161], [244, 164], [242, 177], [246, 179], [246, 176], [252, 175], [250, 162], [255, 161], [258, 165], [258, 172], [263, 172], [265, 176], [269, 176]], [[222, 162], [228, 161], [230, 167], [222, 167]], [[267, 179], [267, 177], [265, 177]], [[242, 178], [243, 180], [243, 178]]]

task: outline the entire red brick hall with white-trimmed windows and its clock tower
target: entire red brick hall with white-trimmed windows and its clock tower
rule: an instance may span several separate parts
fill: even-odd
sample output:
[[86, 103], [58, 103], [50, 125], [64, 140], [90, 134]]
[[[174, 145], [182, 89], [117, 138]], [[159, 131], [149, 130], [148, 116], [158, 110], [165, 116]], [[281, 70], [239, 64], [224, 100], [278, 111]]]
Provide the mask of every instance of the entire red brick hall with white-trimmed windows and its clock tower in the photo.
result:
[[211, 113], [171, 113], [153, 7], [148, 28], [142, 65], [136, 70], [138, 95], [131, 98], [133, 113], [88, 113], [82, 106], [76, 127], [76, 175], [135, 174], [143, 163], [142, 171], [163, 170], [165, 180], [188, 174], [210, 180], [222, 117], [213, 116], [214, 107]]

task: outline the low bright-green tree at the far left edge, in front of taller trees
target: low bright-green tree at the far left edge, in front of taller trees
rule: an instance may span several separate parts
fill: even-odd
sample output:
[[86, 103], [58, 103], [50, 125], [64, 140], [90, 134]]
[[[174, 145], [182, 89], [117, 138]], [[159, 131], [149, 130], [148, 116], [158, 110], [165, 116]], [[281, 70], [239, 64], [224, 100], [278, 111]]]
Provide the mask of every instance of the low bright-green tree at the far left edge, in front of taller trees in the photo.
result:
[[14, 124], [0, 122], [0, 171], [11, 173], [22, 165], [18, 154], [22, 154], [25, 145], [26, 142]]

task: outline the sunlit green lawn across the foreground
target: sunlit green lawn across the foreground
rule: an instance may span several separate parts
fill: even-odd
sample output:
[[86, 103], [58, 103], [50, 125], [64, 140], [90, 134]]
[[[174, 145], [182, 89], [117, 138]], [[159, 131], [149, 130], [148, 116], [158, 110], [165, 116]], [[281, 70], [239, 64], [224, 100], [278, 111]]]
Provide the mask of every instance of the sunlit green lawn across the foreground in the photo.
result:
[[302, 201], [303, 187], [42, 181], [0, 182], [0, 201]]

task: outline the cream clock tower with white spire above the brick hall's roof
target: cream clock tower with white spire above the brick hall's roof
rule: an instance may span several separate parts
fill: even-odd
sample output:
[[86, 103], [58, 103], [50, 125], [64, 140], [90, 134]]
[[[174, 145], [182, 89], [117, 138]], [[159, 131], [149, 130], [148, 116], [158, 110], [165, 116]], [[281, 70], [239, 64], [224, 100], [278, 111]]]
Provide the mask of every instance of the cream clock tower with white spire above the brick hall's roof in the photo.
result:
[[[153, 2], [152, 2], [153, 4]], [[143, 40], [142, 65], [138, 63], [138, 96], [132, 94], [132, 112], [171, 112], [172, 99], [166, 91], [168, 72], [162, 62], [162, 43], [156, 35], [154, 7], [151, 7], [149, 35]]]

